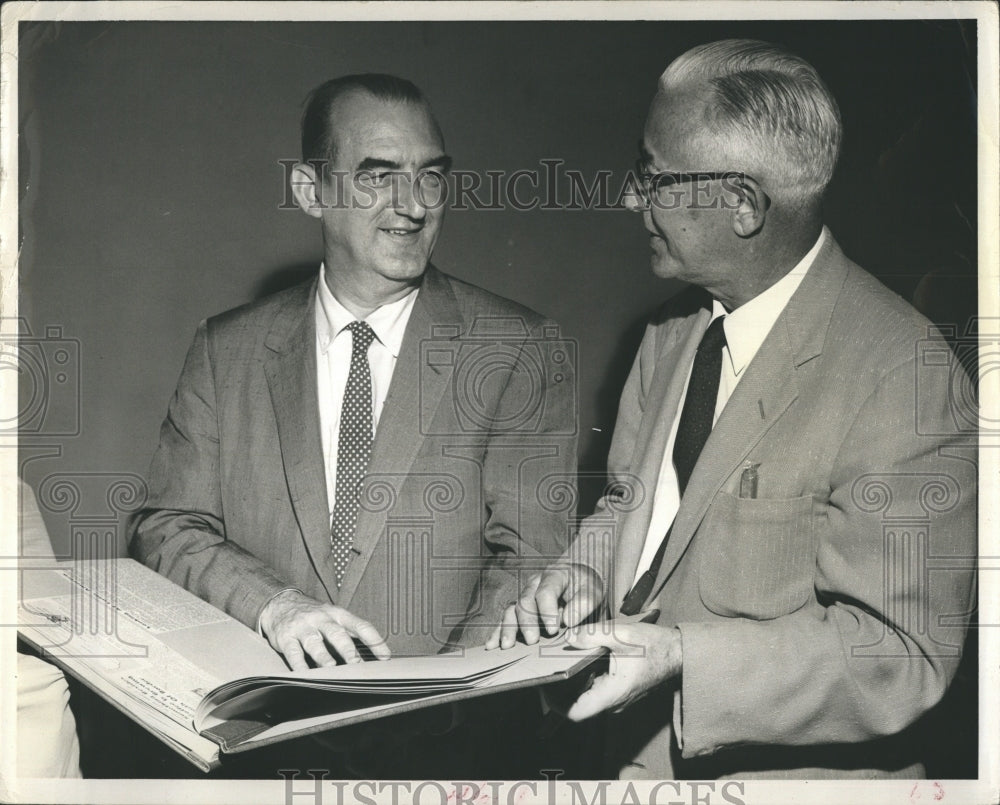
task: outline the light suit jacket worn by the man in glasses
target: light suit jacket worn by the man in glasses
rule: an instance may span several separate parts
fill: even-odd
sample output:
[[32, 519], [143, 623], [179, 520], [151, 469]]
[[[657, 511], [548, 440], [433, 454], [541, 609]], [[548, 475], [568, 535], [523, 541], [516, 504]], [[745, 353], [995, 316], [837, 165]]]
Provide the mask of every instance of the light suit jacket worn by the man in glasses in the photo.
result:
[[[618, 491], [569, 551], [614, 611], [709, 319], [689, 289], [649, 324], [609, 458]], [[688, 483], [648, 601], [681, 631], [681, 678], [611, 717], [615, 771], [920, 776], [907, 728], [956, 670], [976, 555], [975, 441], [960, 435], [975, 418], [942, 356], [828, 233]], [[748, 463], [756, 499], [740, 496]]]

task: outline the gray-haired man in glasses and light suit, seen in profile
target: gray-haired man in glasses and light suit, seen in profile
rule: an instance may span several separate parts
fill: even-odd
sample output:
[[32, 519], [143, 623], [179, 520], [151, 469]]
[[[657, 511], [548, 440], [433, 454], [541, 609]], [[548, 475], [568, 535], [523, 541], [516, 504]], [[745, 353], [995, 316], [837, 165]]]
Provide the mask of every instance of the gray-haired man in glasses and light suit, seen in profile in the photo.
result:
[[840, 138], [816, 71], [766, 43], [694, 48], [660, 79], [632, 207], [654, 273], [692, 287], [622, 394], [627, 494], [489, 641], [565, 625], [611, 649], [567, 713], [610, 711], [610, 773], [922, 774], [915, 731], [974, 607], [976, 420], [940, 336], [822, 226]]

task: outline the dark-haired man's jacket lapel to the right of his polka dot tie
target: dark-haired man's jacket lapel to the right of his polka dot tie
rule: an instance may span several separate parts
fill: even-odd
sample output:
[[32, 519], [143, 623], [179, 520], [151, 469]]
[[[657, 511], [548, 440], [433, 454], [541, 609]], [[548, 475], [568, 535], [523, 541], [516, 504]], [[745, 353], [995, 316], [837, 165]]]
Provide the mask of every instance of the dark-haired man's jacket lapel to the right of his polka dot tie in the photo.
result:
[[[366, 488], [371, 483], [385, 482], [393, 487], [394, 495], [398, 494], [423, 442], [421, 423], [428, 422], [433, 416], [452, 377], [451, 367], [428, 362], [426, 345], [429, 341], [440, 343], [458, 338], [463, 328], [464, 319], [451, 287], [440, 272], [428, 266], [406, 325], [392, 382], [376, 428], [365, 476]], [[381, 495], [368, 498], [362, 493], [354, 535], [357, 555], [344, 574], [340, 588], [342, 606], [350, 604], [385, 532], [391, 506], [366, 505], [366, 499], [374, 501], [376, 497], [382, 499]]]

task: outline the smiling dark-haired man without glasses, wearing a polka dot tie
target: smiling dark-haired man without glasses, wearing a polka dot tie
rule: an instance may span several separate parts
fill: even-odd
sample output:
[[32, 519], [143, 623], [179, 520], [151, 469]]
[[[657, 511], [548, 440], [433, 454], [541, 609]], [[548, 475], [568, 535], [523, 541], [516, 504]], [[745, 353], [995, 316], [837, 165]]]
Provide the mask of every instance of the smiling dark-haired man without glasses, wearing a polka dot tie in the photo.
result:
[[415, 86], [321, 85], [302, 146], [319, 276], [198, 328], [131, 552], [293, 669], [482, 643], [565, 547], [536, 491], [575, 472], [573, 355], [430, 265], [450, 159]]

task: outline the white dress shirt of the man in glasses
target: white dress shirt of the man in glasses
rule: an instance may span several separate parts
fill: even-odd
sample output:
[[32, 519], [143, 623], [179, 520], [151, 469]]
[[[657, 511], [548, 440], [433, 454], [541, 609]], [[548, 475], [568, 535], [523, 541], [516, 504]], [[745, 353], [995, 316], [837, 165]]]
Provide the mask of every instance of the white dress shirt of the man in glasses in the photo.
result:
[[[826, 228], [824, 227], [813, 247], [806, 252], [791, 271], [766, 291], [740, 305], [731, 313], [726, 314], [726, 309], [717, 299], [712, 301], [712, 320], [719, 316], [726, 317], [722, 324], [726, 332], [726, 346], [722, 348], [722, 375], [719, 379], [719, 396], [715, 401], [713, 426], [722, 413], [722, 409], [729, 402], [740, 378], [743, 377], [743, 371], [757, 354], [760, 345], [764, 343], [764, 339], [767, 338], [767, 334], [778, 320], [778, 316], [785, 309], [788, 300], [791, 299], [795, 289], [799, 287], [802, 278], [816, 259], [816, 255], [819, 254], [825, 238]], [[646, 542], [643, 545], [642, 554], [639, 556], [639, 565], [635, 571], [633, 584], [652, 564], [656, 549], [660, 547], [667, 529], [674, 522], [674, 516], [680, 506], [680, 485], [677, 481], [677, 470], [673, 460], [674, 441], [677, 438], [677, 425], [681, 419], [684, 398], [687, 396], [687, 384], [690, 379], [691, 367], [689, 366], [688, 376], [684, 381], [684, 390], [681, 392], [681, 404], [677, 406], [670, 435], [667, 437], [663, 462], [660, 464], [660, 474], [653, 492], [653, 514], [649, 521]]]

